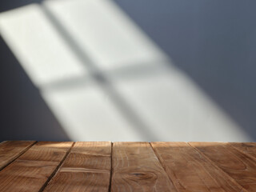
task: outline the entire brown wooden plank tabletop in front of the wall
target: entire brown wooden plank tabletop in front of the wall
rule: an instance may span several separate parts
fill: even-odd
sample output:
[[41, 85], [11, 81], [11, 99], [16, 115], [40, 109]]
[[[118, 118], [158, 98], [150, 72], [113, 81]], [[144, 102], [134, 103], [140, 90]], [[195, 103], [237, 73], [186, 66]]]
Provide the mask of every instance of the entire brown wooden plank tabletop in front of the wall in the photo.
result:
[[256, 191], [256, 143], [0, 143], [0, 191]]

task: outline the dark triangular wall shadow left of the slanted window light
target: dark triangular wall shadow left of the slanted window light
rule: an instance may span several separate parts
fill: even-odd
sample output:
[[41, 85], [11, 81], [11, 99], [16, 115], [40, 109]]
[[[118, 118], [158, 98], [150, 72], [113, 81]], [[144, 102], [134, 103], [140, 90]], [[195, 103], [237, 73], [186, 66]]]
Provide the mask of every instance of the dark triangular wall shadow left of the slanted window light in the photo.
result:
[[0, 142], [69, 141], [2, 37], [0, 53]]

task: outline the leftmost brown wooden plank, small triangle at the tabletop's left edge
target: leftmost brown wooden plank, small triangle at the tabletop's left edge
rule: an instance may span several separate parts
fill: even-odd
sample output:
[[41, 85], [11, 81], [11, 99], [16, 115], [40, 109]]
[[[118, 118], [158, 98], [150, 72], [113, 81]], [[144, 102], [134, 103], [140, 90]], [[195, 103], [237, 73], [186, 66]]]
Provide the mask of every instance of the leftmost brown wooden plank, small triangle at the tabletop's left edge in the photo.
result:
[[0, 170], [6, 167], [15, 158], [18, 158], [30, 146], [34, 145], [34, 141], [6, 141], [0, 143]]

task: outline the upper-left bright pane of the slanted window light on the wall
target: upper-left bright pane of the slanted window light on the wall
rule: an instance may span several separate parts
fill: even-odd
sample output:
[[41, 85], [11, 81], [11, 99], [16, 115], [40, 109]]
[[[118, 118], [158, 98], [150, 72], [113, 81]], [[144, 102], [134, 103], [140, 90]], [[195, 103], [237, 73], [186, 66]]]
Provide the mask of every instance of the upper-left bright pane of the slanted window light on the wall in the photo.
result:
[[8, 46], [37, 86], [85, 75], [40, 7], [32, 4], [1, 14], [0, 32]]

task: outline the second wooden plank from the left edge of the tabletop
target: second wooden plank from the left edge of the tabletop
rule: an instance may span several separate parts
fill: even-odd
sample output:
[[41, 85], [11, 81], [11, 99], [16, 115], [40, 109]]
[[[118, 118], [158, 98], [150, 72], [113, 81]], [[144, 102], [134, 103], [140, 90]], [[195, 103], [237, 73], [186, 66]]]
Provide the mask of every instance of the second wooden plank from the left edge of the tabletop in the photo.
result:
[[0, 172], [0, 191], [39, 191], [73, 142], [38, 142]]

